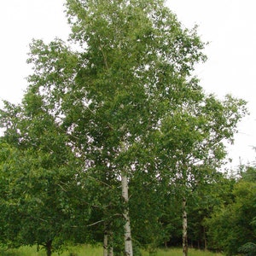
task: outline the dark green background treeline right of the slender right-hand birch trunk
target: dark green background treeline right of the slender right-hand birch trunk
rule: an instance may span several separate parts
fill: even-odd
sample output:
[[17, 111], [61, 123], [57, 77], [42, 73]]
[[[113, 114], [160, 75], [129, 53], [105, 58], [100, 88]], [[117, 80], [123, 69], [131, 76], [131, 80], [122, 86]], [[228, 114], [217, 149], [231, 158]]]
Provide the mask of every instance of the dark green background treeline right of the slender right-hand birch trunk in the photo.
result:
[[[215, 182], [198, 187], [191, 195], [188, 203], [189, 247], [225, 255], [255, 255], [256, 168], [240, 167], [236, 176], [219, 173]], [[180, 207], [172, 207], [174, 216], [180, 211]], [[181, 246], [182, 220], [169, 220], [166, 226], [172, 223], [172, 229], [166, 245]]]

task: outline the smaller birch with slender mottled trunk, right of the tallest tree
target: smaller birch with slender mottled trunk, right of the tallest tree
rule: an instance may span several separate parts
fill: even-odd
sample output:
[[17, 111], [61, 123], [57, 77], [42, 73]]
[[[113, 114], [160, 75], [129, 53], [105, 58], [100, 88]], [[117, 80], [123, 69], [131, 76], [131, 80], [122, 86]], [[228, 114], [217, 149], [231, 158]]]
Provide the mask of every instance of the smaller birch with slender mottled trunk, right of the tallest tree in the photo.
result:
[[205, 96], [163, 120], [159, 147], [183, 205], [183, 255], [188, 254], [187, 199], [199, 184], [216, 177], [225, 160], [224, 141], [232, 142], [236, 125], [246, 113], [244, 104], [231, 96], [223, 102]]

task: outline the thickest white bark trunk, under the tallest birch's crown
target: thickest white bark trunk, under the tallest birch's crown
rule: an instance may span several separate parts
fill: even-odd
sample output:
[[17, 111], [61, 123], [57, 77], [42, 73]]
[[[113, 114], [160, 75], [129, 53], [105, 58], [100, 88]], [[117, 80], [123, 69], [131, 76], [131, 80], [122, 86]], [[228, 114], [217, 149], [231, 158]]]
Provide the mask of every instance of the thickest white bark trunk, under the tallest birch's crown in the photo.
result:
[[129, 217], [129, 196], [128, 196], [128, 179], [125, 172], [122, 172], [122, 196], [125, 201], [125, 256], [133, 256], [132, 241], [131, 241], [131, 223]]

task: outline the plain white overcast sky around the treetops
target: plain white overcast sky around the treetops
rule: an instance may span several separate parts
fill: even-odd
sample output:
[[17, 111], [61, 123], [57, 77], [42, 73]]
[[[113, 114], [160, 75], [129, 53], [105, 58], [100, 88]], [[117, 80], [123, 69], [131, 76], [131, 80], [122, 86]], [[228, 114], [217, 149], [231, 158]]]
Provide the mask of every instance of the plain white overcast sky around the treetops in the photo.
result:
[[[69, 33], [64, 0], [6, 0], [0, 3], [0, 99], [20, 102], [26, 89], [28, 45], [32, 38], [45, 42]], [[248, 102], [250, 116], [239, 125], [230, 157], [232, 166], [255, 160], [256, 147], [256, 15], [255, 0], [167, 0], [184, 26], [199, 25], [207, 46], [207, 63], [196, 74], [207, 92], [227, 93]], [[0, 106], [3, 106], [0, 103]]]

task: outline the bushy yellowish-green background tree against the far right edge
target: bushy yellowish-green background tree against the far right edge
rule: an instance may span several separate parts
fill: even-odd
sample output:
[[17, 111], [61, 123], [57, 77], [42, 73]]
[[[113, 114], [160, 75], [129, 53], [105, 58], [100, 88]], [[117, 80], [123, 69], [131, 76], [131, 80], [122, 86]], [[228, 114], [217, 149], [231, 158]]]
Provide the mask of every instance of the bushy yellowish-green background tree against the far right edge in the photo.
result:
[[249, 167], [243, 173], [245, 178], [238, 180], [232, 190], [233, 201], [216, 208], [207, 219], [211, 247], [223, 249], [228, 255], [253, 253], [253, 246], [248, 246], [255, 241], [256, 191], [255, 179], [250, 175], [253, 172], [255, 169]]

